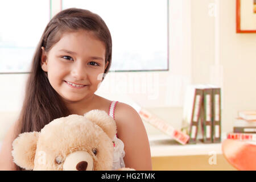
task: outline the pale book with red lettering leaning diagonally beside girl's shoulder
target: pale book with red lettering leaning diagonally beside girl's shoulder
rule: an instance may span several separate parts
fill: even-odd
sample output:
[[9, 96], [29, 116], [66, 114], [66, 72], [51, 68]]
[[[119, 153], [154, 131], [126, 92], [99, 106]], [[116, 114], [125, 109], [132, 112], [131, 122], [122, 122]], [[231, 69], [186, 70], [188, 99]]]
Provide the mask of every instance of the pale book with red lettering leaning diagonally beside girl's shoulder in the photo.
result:
[[146, 109], [139, 110], [139, 115], [141, 116], [143, 121], [150, 123], [152, 126], [156, 127], [156, 129], [169, 135], [177, 142], [181, 144], [186, 144], [188, 142], [189, 136], [187, 134], [184, 134], [181, 131], [174, 129], [174, 127], [172, 127], [170, 124], [151, 114]]

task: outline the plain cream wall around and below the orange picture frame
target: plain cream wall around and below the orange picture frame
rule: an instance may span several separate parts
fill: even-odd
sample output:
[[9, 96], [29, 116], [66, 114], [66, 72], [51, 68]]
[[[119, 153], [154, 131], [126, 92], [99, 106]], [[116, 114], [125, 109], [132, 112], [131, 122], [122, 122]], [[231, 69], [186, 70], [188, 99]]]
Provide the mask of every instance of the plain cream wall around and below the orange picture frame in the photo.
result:
[[236, 1], [221, 1], [220, 62], [224, 67], [225, 130], [237, 111], [256, 109], [256, 34], [236, 34]]

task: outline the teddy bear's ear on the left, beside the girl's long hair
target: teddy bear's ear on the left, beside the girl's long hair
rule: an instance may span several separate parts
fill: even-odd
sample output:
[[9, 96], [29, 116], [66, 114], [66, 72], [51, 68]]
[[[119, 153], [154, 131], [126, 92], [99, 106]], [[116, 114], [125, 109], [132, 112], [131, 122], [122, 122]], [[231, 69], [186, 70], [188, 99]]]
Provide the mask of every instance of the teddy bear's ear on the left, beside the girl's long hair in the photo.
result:
[[13, 141], [13, 155], [14, 163], [26, 170], [34, 168], [34, 159], [36, 152], [36, 144], [38, 142], [39, 132], [27, 132], [19, 134]]

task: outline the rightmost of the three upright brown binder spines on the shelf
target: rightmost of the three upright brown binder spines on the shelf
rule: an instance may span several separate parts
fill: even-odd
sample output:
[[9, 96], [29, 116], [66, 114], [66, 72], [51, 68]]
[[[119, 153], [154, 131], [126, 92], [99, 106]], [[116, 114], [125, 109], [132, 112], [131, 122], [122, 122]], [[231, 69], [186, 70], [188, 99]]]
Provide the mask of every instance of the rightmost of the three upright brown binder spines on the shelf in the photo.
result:
[[212, 123], [212, 143], [221, 142], [221, 89], [213, 88], [213, 123]]

